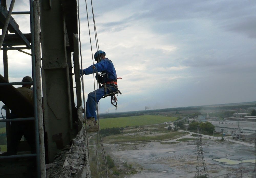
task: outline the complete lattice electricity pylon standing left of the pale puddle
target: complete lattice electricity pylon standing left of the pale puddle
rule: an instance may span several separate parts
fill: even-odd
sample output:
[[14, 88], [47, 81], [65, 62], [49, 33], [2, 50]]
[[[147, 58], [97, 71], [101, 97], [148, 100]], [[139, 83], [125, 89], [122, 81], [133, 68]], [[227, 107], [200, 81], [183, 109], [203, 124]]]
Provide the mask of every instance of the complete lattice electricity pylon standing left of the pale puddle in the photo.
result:
[[202, 148], [202, 135], [199, 125], [197, 126], [197, 163], [196, 163], [196, 176], [205, 175], [209, 177]]

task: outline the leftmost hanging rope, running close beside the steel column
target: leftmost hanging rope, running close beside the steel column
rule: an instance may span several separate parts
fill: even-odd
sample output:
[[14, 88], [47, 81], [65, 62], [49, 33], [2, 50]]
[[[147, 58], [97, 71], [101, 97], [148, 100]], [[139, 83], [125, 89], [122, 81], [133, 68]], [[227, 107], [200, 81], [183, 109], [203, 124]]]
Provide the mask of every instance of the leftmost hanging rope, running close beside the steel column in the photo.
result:
[[[81, 69], [83, 70], [83, 60], [82, 60], [82, 50], [81, 50], [81, 29], [80, 29], [80, 16], [79, 16], [79, 0], [77, 0], [78, 8], [78, 26], [79, 26], [79, 47], [80, 47], [80, 59], [81, 59]], [[82, 90], [83, 90], [83, 106], [85, 107], [85, 97], [84, 97], [84, 85], [83, 85], [83, 75], [82, 75]], [[86, 130], [86, 141], [87, 141], [87, 151], [88, 151], [88, 163], [90, 164], [90, 153], [89, 153], [89, 144], [88, 144], [88, 134], [87, 134], [87, 125], [86, 125], [86, 109], [84, 109], [84, 118], [85, 118], [85, 130]]]

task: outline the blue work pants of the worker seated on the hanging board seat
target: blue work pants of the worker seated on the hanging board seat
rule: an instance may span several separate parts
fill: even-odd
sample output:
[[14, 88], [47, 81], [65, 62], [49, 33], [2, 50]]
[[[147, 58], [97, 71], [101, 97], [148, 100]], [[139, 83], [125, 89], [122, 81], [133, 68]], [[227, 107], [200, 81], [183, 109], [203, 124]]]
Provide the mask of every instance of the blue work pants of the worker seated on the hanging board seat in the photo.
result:
[[[116, 88], [112, 84], [107, 84], [107, 92], [106, 94], [116, 92]], [[104, 87], [101, 87], [95, 92], [91, 92], [88, 94], [87, 102], [86, 102], [86, 117], [93, 117], [95, 118], [95, 121], [97, 120], [97, 115], [96, 115], [96, 102], [95, 102], [95, 93], [96, 93], [96, 102], [97, 104], [99, 103], [99, 100], [105, 95], [105, 89]]]

